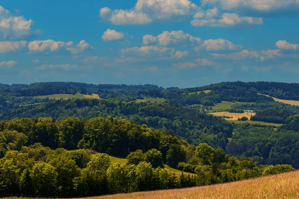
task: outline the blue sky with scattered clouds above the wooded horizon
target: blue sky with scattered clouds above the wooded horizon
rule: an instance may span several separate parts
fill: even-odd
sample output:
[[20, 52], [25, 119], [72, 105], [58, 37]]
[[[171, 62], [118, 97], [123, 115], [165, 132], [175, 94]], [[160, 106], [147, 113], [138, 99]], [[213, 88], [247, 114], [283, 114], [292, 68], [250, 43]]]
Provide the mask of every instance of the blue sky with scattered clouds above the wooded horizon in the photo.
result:
[[298, 82], [299, 0], [1, 0], [0, 83]]

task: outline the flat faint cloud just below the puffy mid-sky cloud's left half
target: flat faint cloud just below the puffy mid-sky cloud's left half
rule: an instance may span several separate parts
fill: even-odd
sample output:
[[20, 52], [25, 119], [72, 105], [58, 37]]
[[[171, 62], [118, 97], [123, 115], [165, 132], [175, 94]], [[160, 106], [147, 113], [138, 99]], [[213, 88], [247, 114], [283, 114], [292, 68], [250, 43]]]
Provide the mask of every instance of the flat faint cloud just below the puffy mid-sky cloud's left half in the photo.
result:
[[174, 48], [166, 48], [160, 46], [142, 46], [134, 48], [122, 49], [125, 55], [132, 55], [137, 57], [171, 57], [175, 54]]

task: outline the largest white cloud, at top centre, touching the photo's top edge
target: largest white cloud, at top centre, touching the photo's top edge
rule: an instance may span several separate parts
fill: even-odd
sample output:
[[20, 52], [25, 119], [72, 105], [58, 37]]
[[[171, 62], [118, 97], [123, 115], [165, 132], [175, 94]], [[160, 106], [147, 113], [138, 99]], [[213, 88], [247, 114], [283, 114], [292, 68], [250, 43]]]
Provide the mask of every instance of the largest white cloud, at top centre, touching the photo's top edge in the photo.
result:
[[197, 9], [198, 6], [190, 0], [138, 0], [129, 10], [101, 8], [100, 16], [115, 25], [148, 24], [153, 21], [181, 21]]

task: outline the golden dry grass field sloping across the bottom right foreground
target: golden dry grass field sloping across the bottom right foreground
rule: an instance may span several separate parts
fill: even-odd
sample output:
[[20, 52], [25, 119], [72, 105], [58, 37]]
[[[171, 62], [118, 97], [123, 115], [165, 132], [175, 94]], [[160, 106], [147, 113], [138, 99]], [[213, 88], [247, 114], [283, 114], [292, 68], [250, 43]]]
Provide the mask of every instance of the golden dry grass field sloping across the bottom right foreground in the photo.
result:
[[88, 199], [299, 199], [299, 171], [206, 187]]

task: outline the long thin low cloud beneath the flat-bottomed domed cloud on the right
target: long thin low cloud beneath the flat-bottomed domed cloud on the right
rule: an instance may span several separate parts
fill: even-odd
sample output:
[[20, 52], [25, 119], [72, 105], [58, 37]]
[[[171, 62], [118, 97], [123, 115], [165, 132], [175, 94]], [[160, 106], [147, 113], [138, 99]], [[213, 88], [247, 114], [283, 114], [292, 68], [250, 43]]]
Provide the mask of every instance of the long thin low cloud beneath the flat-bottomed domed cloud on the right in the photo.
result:
[[273, 59], [276, 57], [282, 56], [280, 53], [280, 50], [262, 50], [262, 51], [248, 51], [243, 50], [241, 52], [236, 53], [229, 53], [229, 54], [212, 54], [214, 59], [219, 60], [234, 60], [234, 61], [240, 61], [240, 60], [247, 60], [247, 59], [253, 59], [257, 61], [264, 61], [265, 59]]

